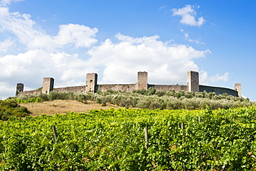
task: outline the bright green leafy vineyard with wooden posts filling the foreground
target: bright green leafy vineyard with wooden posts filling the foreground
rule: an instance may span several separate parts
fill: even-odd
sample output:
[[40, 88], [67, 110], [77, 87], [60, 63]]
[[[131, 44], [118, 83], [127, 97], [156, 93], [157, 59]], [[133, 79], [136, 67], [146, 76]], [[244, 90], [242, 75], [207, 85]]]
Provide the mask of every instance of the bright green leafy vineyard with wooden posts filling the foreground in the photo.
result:
[[255, 119], [255, 107], [10, 117], [0, 170], [255, 170]]

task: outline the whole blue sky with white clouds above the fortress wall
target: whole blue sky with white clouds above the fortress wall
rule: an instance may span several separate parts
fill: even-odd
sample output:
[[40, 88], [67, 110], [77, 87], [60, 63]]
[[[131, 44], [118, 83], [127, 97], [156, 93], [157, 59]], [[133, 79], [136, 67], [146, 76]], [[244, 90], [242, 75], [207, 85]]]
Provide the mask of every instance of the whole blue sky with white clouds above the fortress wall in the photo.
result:
[[42, 87], [99, 83], [200, 84], [256, 100], [255, 1], [0, 1], [0, 97]]

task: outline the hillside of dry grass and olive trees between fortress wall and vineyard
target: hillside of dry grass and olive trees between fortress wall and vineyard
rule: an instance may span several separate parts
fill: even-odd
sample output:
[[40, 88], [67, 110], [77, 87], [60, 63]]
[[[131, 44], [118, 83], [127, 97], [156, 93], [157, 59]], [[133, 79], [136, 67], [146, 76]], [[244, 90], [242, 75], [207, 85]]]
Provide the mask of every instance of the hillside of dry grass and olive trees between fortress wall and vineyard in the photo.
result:
[[[149, 108], [162, 110], [238, 108], [255, 105], [255, 102], [241, 97], [214, 92], [175, 92], [136, 90], [134, 92], [117, 92], [108, 90], [97, 93], [50, 92], [24, 97], [13, 97], [19, 105], [28, 108], [32, 116], [66, 112], [88, 112], [89, 110], [109, 108]], [[34, 103], [39, 102], [39, 103]]]

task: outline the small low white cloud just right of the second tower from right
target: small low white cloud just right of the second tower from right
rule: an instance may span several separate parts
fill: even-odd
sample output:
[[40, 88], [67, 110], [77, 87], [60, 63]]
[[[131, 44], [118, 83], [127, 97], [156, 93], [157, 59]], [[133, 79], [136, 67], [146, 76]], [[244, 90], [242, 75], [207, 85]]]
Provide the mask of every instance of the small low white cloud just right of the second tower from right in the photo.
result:
[[217, 81], [228, 81], [228, 75], [229, 75], [229, 73], [226, 72], [224, 74], [217, 73], [214, 76], [209, 77], [207, 72], [201, 71], [200, 72], [200, 83], [209, 85], [209, 83], [214, 83]]

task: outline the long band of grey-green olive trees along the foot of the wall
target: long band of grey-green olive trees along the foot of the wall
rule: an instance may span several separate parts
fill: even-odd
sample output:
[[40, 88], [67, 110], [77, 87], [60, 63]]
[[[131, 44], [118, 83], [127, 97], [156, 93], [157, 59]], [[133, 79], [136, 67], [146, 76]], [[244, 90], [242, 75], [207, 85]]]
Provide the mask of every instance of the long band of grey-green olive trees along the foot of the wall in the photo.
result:
[[[40, 99], [42, 100], [40, 100]], [[95, 101], [96, 103], [107, 105], [107, 103], [119, 105], [125, 108], [150, 108], [150, 109], [205, 109], [206, 105], [212, 109], [218, 108], [237, 108], [240, 106], [255, 105], [255, 102], [241, 97], [233, 97], [228, 94], [216, 95], [215, 92], [185, 92], [184, 90], [161, 90], [156, 91], [153, 87], [148, 90], [134, 90], [133, 92], [118, 92], [107, 90], [107, 92], [96, 93], [78, 93], [78, 92], [50, 92], [50, 94], [38, 94], [19, 97], [15, 99], [18, 103], [76, 100], [86, 103], [87, 100]]]

